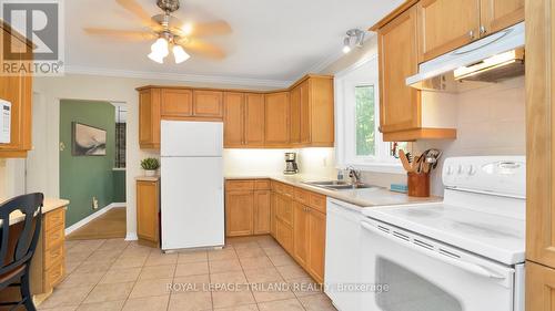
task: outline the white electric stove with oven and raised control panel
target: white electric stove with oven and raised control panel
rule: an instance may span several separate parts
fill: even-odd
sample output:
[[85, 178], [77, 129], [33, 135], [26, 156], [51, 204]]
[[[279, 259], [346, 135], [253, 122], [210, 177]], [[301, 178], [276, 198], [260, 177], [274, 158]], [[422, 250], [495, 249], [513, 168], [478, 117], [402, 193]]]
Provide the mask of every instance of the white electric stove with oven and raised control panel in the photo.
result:
[[443, 203], [366, 208], [363, 310], [524, 310], [525, 157], [447, 158]]

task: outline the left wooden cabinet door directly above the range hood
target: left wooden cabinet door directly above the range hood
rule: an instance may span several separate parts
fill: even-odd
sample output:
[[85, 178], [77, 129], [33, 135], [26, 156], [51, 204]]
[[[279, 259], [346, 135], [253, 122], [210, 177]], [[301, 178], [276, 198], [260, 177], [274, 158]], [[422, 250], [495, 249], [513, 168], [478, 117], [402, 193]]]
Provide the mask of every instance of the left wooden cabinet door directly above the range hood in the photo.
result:
[[478, 39], [480, 1], [418, 2], [420, 62], [428, 61]]

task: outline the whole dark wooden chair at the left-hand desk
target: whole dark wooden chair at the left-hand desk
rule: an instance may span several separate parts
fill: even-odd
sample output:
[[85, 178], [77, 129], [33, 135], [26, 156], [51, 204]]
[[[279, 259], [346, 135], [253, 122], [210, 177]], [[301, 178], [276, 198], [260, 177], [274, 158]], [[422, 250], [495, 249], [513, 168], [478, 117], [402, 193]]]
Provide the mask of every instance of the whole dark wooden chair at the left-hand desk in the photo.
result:
[[[30, 194], [0, 205], [0, 291], [19, 287], [21, 292], [21, 301], [0, 302], [0, 305], [13, 305], [10, 310], [21, 305], [29, 311], [37, 310], [32, 301], [29, 271], [40, 236], [43, 199], [42, 194]], [[24, 219], [20, 231], [10, 232], [10, 214], [13, 211], [22, 212]], [[13, 236], [16, 234], [18, 236]]]

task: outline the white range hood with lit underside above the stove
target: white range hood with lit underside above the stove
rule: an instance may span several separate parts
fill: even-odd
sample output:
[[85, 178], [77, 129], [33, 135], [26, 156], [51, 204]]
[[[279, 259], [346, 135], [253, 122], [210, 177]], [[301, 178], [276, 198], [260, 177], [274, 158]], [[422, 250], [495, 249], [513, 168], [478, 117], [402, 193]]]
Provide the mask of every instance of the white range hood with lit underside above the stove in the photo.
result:
[[422, 63], [406, 85], [464, 92], [524, 75], [524, 22]]

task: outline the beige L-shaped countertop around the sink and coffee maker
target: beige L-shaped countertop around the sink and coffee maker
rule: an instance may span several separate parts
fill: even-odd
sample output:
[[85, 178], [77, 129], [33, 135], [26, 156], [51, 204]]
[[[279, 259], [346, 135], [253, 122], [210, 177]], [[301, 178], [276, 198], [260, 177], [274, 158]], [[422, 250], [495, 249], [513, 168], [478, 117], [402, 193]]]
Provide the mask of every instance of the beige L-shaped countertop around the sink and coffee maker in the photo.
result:
[[405, 205], [417, 203], [440, 201], [441, 197], [415, 198], [406, 194], [391, 191], [387, 188], [376, 187], [371, 189], [353, 189], [353, 190], [329, 190], [315, 186], [304, 184], [305, 182], [324, 182], [334, 180], [311, 175], [274, 175], [274, 176], [252, 176], [252, 175], [232, 175], [225, 176], [225, 179], [273, 179], [291, 186], [300, 187], [306, 190], [322, 194], [342, 201], [354, 204], [361, 207], [386, 206], [386, 205]]

